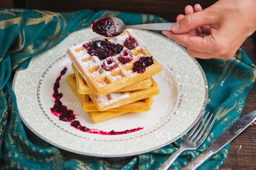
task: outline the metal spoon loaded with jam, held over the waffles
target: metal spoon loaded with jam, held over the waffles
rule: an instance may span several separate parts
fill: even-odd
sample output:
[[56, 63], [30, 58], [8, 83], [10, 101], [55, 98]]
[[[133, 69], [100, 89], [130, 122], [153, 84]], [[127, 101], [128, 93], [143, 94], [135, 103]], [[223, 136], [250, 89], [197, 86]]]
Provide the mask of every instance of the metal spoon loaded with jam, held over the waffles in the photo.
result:
[[[167, 31], [171, 31], [171, 26], [174, 24], [173, 22], [168, 22], [168, 23], [152, 23], [152, 24], [138, 24], [138, 25], [125, 25], [124, 22], [122, 20], [120, 20], [119, 18], [115, 18], [115, 17], [104, 17], [104, 18], [99, 18], [98, 20], [92, 22], [92, 29], [94, 24], [97, 21], [103, 21], [105, 19], [111, 19], [114, 24], [110, 25], [110, 24], [106, 24], [105, 26], [105, 30], [109, 31], [108, 29], [111, 29], [111, 31], [109, 31], [109, 33], [107, 34], [108, 36], [111, 37], [115, 37], [117, 35], [120, 35], [124, 30], [126, 29], [148, 29], [148, 30], [167, 30]], [[102, 26], [101, 29], [104, 27]], [[111, 28], [110, 28], [111, 27]], [[93, 29], [94, 30], [94, 29]], [[96, 33], [102, 35], [102, 33], [99, 33], [97, 31], [95, 31]], [[104, 32], [106, 33], [106, 32]], [[106, 36], [103, 35], [103, 36]]]

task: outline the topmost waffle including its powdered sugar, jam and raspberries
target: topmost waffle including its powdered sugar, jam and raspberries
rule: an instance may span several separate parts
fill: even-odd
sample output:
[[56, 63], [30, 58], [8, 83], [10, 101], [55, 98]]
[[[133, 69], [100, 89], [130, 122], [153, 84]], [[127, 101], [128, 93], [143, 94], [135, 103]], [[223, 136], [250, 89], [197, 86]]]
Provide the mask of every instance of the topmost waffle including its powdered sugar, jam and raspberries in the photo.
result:
[[[127, 45], [129, 43], [126, 43], [127, 39], [128, 42], [132, 42], [132, 39], [129, 41], [130, 37], [136, 40], [135, 44], [131, 45], [134, 45], [132, 48]], [[106, 52], [100, 51], [99, 53], [99, 51], [94, 50], [103, 46], [104, 49], [106, 48]], [[111, 46], [111, 48], [108, 49], [108, 46]], [[132, 60], [123, 64], [123, 62], [119, 61], [121, 60], [120, 53], [122, 50], [129, 51], [126, 46], [131, 49]], [[67, 55], [83, 79], [85, 79], [97, 95], [106, 95], [117, 91], [162, 71], [162, 67], [157, 60], [154, 57], [150, 58], [152, 56], [150, 52], [135, 33], [130, 30], [124, 31], [124, 33], [115, 38], [104, 38], [101, 36], [74, 45], [67, 50]], [[133, 71], [136, 65], [135, 62], [139, 63], [140, 59], [145, 58], [143, 56], [146, 56], [145, 63], [150, 64], [142, 71]], [[146, 60], [150, 60], [150, 62], [146, 62]], [[113, 69], [110, 71], [106, 70], [110, 68]]]

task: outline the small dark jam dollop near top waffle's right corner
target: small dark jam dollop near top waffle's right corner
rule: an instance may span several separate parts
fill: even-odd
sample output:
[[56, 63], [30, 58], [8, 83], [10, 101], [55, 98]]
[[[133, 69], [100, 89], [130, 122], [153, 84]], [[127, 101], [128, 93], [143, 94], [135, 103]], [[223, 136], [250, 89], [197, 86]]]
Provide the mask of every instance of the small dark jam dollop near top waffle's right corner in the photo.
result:
[[153, 57], [140, 57], [139, 61], [133, 63], [133, 72], [144, 73], [148, 66], [154, 64]]

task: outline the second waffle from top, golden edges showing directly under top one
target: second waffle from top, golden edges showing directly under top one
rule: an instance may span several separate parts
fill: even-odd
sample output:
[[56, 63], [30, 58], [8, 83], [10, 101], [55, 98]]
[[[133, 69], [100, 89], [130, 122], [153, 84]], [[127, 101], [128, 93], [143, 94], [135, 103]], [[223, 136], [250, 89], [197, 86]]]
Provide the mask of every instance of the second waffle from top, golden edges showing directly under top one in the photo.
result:
[[[92, 88], [90, 88], [90, 86], [88, 86], [88, 84], [85, 82], [85, 80], [83, 79], [81, 74], [77, 71], [74, 64], [72, 64], [72, 69], [76, 75], [76, 84], [77, 84], [78, 93], [80, 93], [82, 95], [95, 94], [95, 92], [92, 90]], [[151, 84], [152, 84], [151, 79], [150, 79], [150, 77], [148, 77], [144, 80], [141, 80], [140, 82], [131, 84], [131, 85], [121, 88], [115, 92], [137, 91], [137, 90], [141, 90], [144, 88], [149, 88], [151, 86]], [[87, 110], [85, 110], [85, 111], [87, 111]], [[96, 110], [94, 110], [94, 111], [96, 111]]]

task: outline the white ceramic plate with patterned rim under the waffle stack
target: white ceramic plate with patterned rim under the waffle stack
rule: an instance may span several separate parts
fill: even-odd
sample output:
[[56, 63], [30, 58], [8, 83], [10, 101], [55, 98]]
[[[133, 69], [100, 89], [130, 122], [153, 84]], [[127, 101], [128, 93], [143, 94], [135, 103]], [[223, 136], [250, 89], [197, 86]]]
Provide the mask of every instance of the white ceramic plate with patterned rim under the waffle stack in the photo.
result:
[[[99, 156], [123, 157], [137, 155], [165, 146], [187, 132], [198, 120], [207, 103], [208, 87], [198, 62], [177, 43], [150, 31], [134, 30], [148, 50], [162, 65], [163, 71], [154, 75], [161, 92], [154, 97], [151, 110], [130, 113], [94, 124], [65, 81], [72, 73], [65, 51], [76, 42], [97, 35], [91, 29], [71, 33], [54, 48], [33, 57], [25, 70], [16, 72], [13, 90], [22, 121], [45, 141], [71, 152]], [[109, 132], [137, 127], [142, 130], [123, 135], [99, 135], [82, 132], [70, 122], [58, 120], [50, 108], [54, 105], [53, 84], [61, 70], [67, 73], [60, 81], [61, 101], [74, 110], [76, 120], [83, 126]]]

